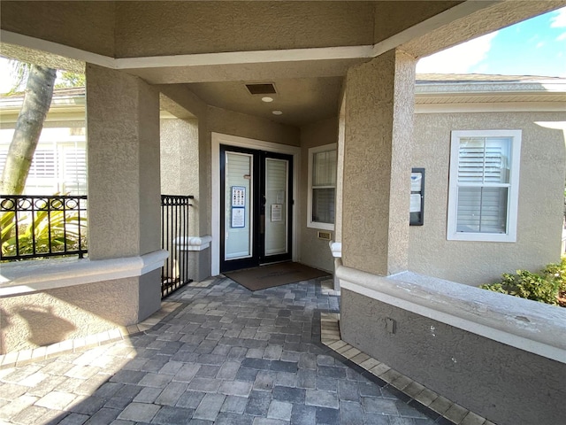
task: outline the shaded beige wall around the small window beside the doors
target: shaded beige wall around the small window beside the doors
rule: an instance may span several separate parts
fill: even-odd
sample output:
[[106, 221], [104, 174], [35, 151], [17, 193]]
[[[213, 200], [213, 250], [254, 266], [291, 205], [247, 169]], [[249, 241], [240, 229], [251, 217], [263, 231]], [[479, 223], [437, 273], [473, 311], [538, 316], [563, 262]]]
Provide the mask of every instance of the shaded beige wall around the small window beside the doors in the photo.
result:
[[[310, 267], [333, 272], [333, 256], [324, 239], [318, 239], [317, 228], [307, 227], [307, 197], [309, 196], [309, 148], [322, 146], [338, 141], [338, 118], [318, 121], [301, 128], [301, 168], [299, 197], [301, 210], [297, 214], [300, 229], [299, 261]], [[328, 230], [324, 230], [327, 232]], [[334, 231], [330, 231], [334, 235]]]

